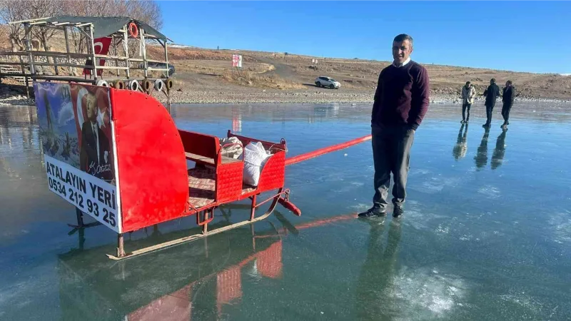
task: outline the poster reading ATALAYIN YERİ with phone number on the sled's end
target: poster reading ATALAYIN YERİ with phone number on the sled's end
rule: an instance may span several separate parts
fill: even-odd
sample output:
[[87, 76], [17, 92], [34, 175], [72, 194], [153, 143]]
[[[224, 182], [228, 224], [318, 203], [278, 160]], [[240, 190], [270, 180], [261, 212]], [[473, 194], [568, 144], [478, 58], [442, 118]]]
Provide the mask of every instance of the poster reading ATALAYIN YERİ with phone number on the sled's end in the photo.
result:
[[109, 88], [34, 83], [49, 188], [120, 233]]

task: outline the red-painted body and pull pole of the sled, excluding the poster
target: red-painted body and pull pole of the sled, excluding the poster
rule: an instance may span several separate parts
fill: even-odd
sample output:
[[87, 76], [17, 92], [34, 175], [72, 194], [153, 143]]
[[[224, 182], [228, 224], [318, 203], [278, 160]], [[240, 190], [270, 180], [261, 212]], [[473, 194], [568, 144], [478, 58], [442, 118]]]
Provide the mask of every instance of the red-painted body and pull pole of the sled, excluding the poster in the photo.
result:
[[[193, 215], [198, 210], [211, 210], [223, 203], [236, 202], [271, 190], [283, 190], [285, 165], [338, 151], [371, 138], [357, 138], [286, 160], [285, 140], [282, 139], [280, 143], [260, 141], [232, 135], [228, 131], [228, 137], [236, 136], [244, 146], [260, 141], [266, 150], [273, 153], [261, 171], [257, 188], [243, 190], [243, 162], [223, 162], [216, 136], [179, 130], [166, 108], [144, 93], [111, 89], [111, 104], [123, 233]], [[211, 159], [207, 165], [213, 170], [216, 183], [214, 200], [203, 208], [188, 205], [186, 153]], [[279, 203], [300, 215], [300, 210], [289, 200], [281, 198]]]

